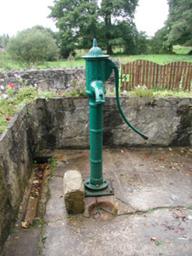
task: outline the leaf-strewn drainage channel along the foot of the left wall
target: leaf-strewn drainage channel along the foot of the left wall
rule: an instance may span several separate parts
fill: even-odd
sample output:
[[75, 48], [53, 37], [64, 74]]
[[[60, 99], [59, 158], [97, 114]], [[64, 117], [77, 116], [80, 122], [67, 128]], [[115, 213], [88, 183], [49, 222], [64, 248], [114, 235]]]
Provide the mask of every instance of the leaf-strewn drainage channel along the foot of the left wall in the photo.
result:
[[[21, 227], [27, 229], [33, 224], [37, 217], [37, 210], [40, 206], [41, 194], [44, 189], [44, 183], [47, 181], [47, 176], [51, 172], [51, 158], [46, 156], [37, 156], [33, 158], [35, 165], [33, 166], [33, 183], [30, 188], [30, 196], [26, 205]], [[41, 207], [40, 207], [41, 208]]]

